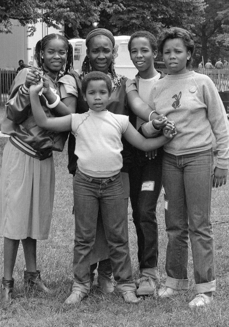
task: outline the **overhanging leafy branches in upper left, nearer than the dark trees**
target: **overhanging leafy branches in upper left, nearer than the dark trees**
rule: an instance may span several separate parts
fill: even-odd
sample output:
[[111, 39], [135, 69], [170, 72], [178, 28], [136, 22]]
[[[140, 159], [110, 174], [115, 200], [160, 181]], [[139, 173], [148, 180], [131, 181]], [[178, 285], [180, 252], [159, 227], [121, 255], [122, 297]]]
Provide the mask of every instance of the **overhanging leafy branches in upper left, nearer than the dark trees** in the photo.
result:
[[82, 25], [90, 26], [99, 21], [101, 10], [110, 14], [114, 9], [124, 9], [121, 0], [114, 3], [109, 0], [3, 0], [0, 3], [0, 32], [11, 32], [10, 19], [18, 20], [22, 26], [27, 24], [31, 35], [36, 30], [34, 24], [37, 21], [56, 28], [58, 24], [65, 22], [77, 37]]

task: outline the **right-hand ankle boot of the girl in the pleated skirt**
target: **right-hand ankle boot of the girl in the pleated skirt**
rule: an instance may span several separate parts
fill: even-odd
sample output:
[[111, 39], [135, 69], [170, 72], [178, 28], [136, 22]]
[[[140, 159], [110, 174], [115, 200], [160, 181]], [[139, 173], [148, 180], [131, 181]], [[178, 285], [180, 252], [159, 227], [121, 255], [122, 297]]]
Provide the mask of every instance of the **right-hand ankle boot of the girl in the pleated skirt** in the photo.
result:
[[40, 278], [40, 270], [37, 270], [37, 272], [24, 270], [24, 289], [26, 292], [39, 291], [45, 294], [53, 294], [53, 291], [46, 287]]

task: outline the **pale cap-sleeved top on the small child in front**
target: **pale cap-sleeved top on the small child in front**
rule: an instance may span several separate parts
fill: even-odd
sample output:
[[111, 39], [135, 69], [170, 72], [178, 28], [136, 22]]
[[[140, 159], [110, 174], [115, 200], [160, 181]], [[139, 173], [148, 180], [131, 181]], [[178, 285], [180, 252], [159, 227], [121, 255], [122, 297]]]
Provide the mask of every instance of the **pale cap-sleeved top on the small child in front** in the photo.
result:
[[71, 115], [72, 134], [76, 139], [77, 165], [91, 177], [111, 177], [122, 168], [122, 134], [127, 129], [129, 117], [109, 111]]

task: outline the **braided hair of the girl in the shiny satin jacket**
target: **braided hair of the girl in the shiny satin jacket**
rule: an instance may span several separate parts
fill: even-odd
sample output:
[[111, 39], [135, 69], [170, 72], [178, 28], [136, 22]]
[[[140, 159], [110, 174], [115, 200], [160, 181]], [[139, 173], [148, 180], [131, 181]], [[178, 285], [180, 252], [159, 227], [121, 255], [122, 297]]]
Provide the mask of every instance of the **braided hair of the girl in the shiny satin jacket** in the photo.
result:
[[67, 58], [66, 58], [66, 64], [65, 64], [65, 72], [64, 75], [68, 73], [71, 69], [73, 69], [73, 48], [71, 43], [66, 39], [65, 36], [60, 34], [49, 34], [43, 37], [38, 43], [36, 44], [35, 48], [35, 58], [37, 61], [37, 65], [39, 68], [43, 70], [43, 59], [40, 56], [40, 52], [44, 51], [46, 45], [49, 43], [50, 40], [62, 40], [65, 44], [66, 51], [67, 51]]

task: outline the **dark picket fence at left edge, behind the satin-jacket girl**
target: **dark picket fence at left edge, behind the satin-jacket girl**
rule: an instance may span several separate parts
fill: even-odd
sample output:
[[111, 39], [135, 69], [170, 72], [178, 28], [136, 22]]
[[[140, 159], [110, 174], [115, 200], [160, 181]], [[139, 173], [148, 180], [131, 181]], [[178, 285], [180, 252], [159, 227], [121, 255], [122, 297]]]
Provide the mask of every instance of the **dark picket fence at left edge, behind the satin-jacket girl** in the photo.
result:
[[0, 68], [0, 105], [7, 102], [9, 89], [16, 75], [16, 70]]

